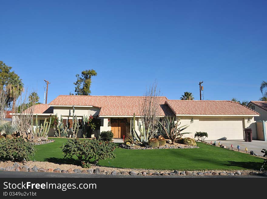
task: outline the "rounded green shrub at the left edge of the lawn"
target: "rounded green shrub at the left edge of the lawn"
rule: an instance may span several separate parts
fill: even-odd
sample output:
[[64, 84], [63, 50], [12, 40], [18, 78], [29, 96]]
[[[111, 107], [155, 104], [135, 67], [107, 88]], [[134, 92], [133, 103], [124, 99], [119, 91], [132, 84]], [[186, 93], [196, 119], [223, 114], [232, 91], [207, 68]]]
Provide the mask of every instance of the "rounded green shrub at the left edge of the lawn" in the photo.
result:
[[0, 139], [0, 160], [11, 160], [21, 162], [28, 161], [34, 156], [36, 149], [30, 142], [22, 138]]

